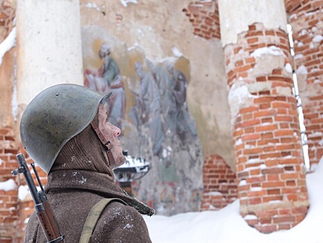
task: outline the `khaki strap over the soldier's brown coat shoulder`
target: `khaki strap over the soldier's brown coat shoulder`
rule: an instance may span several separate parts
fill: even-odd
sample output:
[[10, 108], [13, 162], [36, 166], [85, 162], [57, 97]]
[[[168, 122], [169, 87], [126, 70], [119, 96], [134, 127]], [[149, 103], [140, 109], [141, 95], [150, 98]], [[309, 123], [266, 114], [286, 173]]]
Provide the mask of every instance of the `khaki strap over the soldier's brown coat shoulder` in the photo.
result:
[[104, 208], [110, 203], [111, 201], [119, 201], [120, 203], [126, 203], [121, 199], [102, 199], [97, 204], [93, 206], [91, 209], [88, 217], [86, 218], [85, 224], [83, 226], [83, 231], [81, 234], [80, 242], [79, 243], [89, 243], [92, 237], [92, 233], [94, 231], [95, 226], [97, 225], [97, 221], [101, 213], [103, 212]]

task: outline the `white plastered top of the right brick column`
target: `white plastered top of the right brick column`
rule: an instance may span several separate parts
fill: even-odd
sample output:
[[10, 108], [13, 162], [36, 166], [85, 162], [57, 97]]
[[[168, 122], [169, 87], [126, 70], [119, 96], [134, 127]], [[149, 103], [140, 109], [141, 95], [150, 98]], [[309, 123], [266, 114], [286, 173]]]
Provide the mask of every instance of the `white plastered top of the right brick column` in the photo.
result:
[[[263, 9], [270, 15], [264, 15]], [[287, 32], [283, 0], [219, 0], [219, 12], [223, 47], [236, 43], [238, 34], [248, 31], [248, 26], [254, 23]]]

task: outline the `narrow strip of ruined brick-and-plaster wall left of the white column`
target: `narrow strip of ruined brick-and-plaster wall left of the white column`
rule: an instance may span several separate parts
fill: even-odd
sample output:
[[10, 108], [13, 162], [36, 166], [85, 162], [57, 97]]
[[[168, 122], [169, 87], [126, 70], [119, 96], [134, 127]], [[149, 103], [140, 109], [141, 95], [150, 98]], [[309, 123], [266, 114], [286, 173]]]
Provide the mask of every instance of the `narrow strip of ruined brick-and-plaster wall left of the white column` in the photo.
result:
[[14, 154], [18, 150], [13, 115], [15, 8], [15, 1], [0, 1], [0, 43], [1, 50], [6, 50], [0, 56], [0, 242], [19, 242], [21, 236], [16, 233], [19, 225], [17, 184], [10, 175], [16, 165]]

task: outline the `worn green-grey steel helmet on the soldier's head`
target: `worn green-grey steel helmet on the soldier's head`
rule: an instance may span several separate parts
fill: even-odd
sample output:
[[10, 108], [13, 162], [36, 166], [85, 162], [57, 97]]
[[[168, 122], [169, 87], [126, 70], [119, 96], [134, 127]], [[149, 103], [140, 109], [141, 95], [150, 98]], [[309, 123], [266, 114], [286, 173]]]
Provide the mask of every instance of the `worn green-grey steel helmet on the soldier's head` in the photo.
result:
[[63, 146], [91, 123], [99, 103], [105, 103], [110, 95], [67, 83], [40, 92], [20, 122], [20, 137], [28, 155], [48, 174]]

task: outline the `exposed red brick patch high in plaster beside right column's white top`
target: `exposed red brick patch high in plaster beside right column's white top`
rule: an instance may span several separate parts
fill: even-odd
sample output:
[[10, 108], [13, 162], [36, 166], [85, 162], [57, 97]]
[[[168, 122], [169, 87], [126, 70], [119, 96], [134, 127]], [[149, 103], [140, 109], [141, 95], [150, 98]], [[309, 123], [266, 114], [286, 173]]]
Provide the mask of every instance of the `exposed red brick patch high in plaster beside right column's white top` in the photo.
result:
[[220, 39], [219, 8], [217, 1], [193, 1], [183, 12], [190, 18], [194, 35], [209, 40]]

